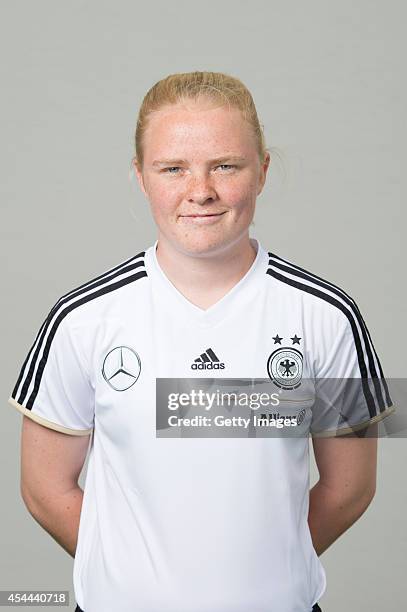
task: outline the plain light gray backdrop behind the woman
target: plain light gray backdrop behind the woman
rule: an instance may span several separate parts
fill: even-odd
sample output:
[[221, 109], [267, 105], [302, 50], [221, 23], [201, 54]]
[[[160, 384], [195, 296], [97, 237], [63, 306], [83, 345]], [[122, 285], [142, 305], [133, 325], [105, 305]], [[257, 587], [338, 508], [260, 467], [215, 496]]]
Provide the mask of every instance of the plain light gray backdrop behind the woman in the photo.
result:
[[[252, 235], [350, 293], [385, 374], [406, 376], [406, 13], [371, 0], [3, 0], [1, 589], [69, 588], [73, 609], [73, 560], [20, 499], [22, 417], [7, 398], [56, 299], [155, 240], [128, 169], [138, 107], [167, 74], [246, 83], [279, 152]], [[405, 604], [405, 464], [404, 439], [379, 440], [376, 497], [321, 557], [324, 612]]]

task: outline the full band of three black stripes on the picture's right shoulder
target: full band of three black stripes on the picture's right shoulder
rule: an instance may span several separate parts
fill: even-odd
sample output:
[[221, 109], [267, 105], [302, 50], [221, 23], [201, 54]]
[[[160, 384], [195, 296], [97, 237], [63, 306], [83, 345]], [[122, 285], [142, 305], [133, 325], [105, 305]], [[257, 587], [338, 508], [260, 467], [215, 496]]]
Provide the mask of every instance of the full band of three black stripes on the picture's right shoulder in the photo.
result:
[[[273, 253], [269, 253], [270, 257], [277, 257], [276, 255], [274, 255]], [[278, 258], [280, 261], [285, 261], [282, 260], [281, 258]], [[366, 364], [365, 364], [365, 359], [364, 359], [364, 354], [363, 354], [363, 348], [362, 348], [362, 344], [361, 344], [361, 339], [360, 339], [360, 335], [359, 335], [359, 331], [356, 327], [356, 323], [355, 323], [355, 319], [358, 321], [361, 332], [362, 332], [362, 336], [364, 339], [364, 344], [366, 347], [366, 353], [368, 356], [368, 362], [369, 362], [369, 370], [371, 373], [371, 377], [373, 380], [373, 384], [375, 387], [375, 391], [376, 391], [376, 395], [378, 398], [378, 403], [379, 403], [379, 408], [380, 411], [383, 411], [386, 409], [386, 405], [384, 404], [384, 400], [383, 400], [383, 395], [382, 395], [382, 390], [381, 390], [381, 386], [380, 386], [380, 382], [378, 380], [378, 375], [377, 375], [377, 371], [376, 371], [376, 367], [374, 364], [374, 359], [373, 359], [373, 355], [372, 355], [372, 351], [371, 351], [371, 346], [373, 347], [374, 350], [374, 346], [373, 343], [370, 344], [371, 339], [370, 339], [370, 334], [369, 334], [369, 339], [367, 337], [367, 327], [366, 324], [362, 318], [362, 315], [357, 307], [357, 305], [355, 304], [354, 300], [352, 300], [352, 298], [350, 298], [350, 296], [348, 296], [342, 289], [340, 289], [339, 287], [337, 287], [336, 285], [334, 285], [333, 283], [330, 283], [316, 275], [314, 275], [311, 272], [308, 272], [307, 270], [304, 270], [303, 268], [300, 268], [299, 266], [295, 266], [294, 264], [291, 264], [290, 262], [286, 262], [289, 264], [290, 267], [284, 266], [283, 264], [270, 259], [269, 260], [269, 265], [270, 267], [267, 269], [267, 274], [269, 274], [270, 276], [273, 276], [274, 278], [276, 278], [277, 280], [280, 280], [288, 285], [291, 285], [293, 287], [296, 287], [297, 289], [300, 289], [302, 291], [305, 291], [307, 293], [310, 293], [312, 295], [315, 295], [316, 297], [319, 297], [327, 302], [329, 302], [330, 304], [332, 304], [333, 306], [337, 307], [339, 310], [341, 310], [344, 315], [347, 317], [351, 329], [352, 329], [352, 333], [353, 333], [353, 337], [354, 337], [354, 341], [355, 341], [355, 347], [356, 347], [356, 353], [357, 353], [357, 357], [358, 357], [358, 364], [359, 364], [359, 369], [360, 369], [360, 373], [361, 373], [361, 378], [362, 378], [362, 386], [363, 386], [363, 390], [364, 390], [364, 394], [365, 394], [365, 398], [367, 401], [367, 404], [369, 406], [369, 413], [371, 414], [371, 416], [375, 416], [376, 414], [376, 410], [375, 410], [375, 404], [374, 404], [374, 398], [370, 392], [369, 386], [368, 386], [368, 382], [367, 382], [367, 378], [368, 378], [368, 372], [367, 372], [367, 368], [366, 368]], [[344, 302], [346, 302], [346, 304], [348, 304], [348, 306], [345, 306], [344, 304], [342, 304], [342, 302], [338, 301], [337, 299], [335, 299], [333, 296], [324, 293], [323, 291], [321, 291], [320, 289], [318, 289], [317, 287], [311, 287], [309, 285], [303, 284], [299, 281], [296, 281], [290, 277], [285, 276], [284, 274], [281, 274], [280, 272], [278, 272], [277, 270], [280, 270], [281, 272], [287, 272], [289, 274], [291, 274], [292, 276], [296, 276], [298, 278], [302, 278], [304, 280], [307, 280], [309, 282], [314, 283], [317, 287], [321, 287], [323, 289], [327, 289], [328, 291], [338, 295], [338, 297], [340, 297]], [[370, 340], [370, 342], [369, 342]], [[376, 360], [378, 363], [378, 367], [380, 370], [380, 375], [381, 375], [381, 379], [382, 379], [382, 383], [385, 389], [385, 393], [386, 393], [386, 400], [387, 403], [391, 405], [391, 399], [390, 399], [390, 395], [388, 392], [388, 388], [387, 388], [387, 383], [386, 380], [384, 378], [383, 375], [383, 370], [380, 364], [380, 360], [376, 354], [375, 351], [375, 355], [376, 355]]]

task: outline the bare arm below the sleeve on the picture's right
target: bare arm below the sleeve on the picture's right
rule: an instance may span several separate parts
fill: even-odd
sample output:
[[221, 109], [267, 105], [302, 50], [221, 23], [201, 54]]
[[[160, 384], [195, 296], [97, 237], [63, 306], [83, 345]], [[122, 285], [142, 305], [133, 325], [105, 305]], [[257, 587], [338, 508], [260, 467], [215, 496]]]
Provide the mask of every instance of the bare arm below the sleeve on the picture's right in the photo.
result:
[[365, 512], [376, 491], [377, 424], [369, 436], [313, 438], [319, 481], [310, 491], [308, 524], [321, 555]]

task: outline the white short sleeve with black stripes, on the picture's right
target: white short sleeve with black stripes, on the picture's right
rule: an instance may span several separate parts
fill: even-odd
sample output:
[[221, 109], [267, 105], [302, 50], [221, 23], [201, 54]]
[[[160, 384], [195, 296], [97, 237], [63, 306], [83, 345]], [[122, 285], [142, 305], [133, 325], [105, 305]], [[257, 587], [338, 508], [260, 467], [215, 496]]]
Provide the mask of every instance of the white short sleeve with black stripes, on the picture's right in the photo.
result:
[[314, 381], [312, 437], [353, 433], [395, 412], [370, 333], [357, 313], [339, 313], [323, 343]]

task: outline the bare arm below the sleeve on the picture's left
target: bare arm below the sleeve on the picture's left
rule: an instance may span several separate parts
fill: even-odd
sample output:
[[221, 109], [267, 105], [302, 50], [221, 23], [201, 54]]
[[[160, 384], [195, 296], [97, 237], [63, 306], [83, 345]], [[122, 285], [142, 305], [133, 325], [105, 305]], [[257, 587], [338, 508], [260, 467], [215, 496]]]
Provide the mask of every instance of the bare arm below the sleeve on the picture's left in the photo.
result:
[[21, 495], [33, 518], [75, 556], [83, 491], [78, 485], [90, 434], [74, 436], [24, 416]]

